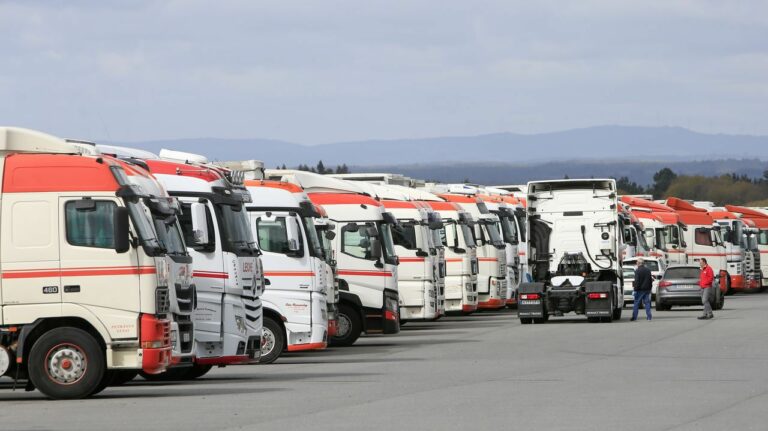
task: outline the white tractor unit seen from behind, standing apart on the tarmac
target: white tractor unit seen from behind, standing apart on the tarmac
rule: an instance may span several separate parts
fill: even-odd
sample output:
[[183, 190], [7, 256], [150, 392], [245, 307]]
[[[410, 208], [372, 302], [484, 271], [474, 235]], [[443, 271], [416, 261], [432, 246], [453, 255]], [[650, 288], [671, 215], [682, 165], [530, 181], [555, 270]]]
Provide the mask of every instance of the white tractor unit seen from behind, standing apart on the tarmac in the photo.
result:
[[522, 324], [550, 316], [621, 319], [621, 253], [630, 223], [619, 210], [613, 179], [528, 183], [529, 266], [533, 282], [518, 289]]

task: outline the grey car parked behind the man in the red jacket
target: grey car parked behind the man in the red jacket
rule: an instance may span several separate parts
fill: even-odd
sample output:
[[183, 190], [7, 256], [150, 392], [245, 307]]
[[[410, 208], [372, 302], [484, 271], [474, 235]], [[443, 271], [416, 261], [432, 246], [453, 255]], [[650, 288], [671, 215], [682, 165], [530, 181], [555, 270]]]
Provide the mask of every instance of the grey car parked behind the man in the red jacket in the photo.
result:
[[[656, 293], [656, 310], [664, 311], [673, 305], [701, 305], [698, 265], [672, 265], [664, 271]], [[725, 295], [720, 291], [719, 280], [715, 278], [715, 297], [711, 298], [712, 309], [720, 310], [725, 304]]]

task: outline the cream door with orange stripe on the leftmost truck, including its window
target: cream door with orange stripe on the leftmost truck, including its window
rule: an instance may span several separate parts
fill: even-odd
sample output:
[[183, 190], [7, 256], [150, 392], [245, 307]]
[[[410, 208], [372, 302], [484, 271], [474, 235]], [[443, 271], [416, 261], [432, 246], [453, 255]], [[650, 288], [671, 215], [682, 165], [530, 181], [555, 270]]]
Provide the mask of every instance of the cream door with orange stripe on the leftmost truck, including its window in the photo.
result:
[[[154, 273], [155, 266], [139, 266], [138, 250], [115, 251], [114, 214], [120, 202], [114, 197], [61, 197], [62, 214], [59, 249], [61, 254], [62, 304], [103, 307], [115, 310], [110, 332], [130, 328], [135, 315], [121, 317], [118, 310], [138, 312], [140, 274]], [[62, 307], [64, 308], [64, 307]]]

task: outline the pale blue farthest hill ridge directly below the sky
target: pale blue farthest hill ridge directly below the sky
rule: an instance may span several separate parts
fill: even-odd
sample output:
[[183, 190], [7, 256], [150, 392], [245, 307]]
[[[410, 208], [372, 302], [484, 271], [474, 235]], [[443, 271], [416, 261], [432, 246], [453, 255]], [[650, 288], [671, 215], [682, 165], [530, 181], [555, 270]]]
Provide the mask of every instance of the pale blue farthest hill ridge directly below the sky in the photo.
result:
[[[704, 134], [679, 127], [600, 126], [532, 135], [495, 133], [320, 145], [219, 138], [147, 141], [127, 145], [150, 151], [161, 148], [189, 151], [205, 154], [212, 160], [259, 159], [270, 167], [302, 163], [314, 165], [318, 160], [326, 165], [346, 163], [359, 167], [488, 162], [536, 162], [539, 163], [537, 166], [541, 166], [540, 163], [563, 160], [684, 162], [724, 158], [768, 159], [767, 136]], [[599, 164], [593, 166], [596, 168]], [[440, 168], [435, 165], [434, 169]], [[453, 169], [458, 168], [453, 166]], [[459, 176], [472, 177], [469, 173]]]

